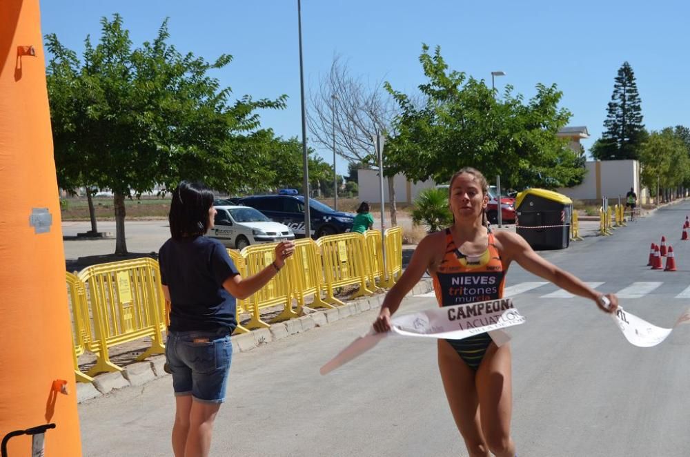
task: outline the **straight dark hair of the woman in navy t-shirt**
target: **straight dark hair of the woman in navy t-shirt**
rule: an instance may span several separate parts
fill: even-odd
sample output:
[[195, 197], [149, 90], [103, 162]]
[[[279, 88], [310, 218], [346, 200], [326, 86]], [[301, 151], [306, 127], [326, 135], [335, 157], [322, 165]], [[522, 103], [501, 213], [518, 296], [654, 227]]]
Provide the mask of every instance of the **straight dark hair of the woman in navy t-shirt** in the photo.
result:
[[183, 181], [172, 191], [170, 203], [170, 235], [173, 238], [195, 237], [208, 231], [208, 209], [213, 193], [196, 182]]

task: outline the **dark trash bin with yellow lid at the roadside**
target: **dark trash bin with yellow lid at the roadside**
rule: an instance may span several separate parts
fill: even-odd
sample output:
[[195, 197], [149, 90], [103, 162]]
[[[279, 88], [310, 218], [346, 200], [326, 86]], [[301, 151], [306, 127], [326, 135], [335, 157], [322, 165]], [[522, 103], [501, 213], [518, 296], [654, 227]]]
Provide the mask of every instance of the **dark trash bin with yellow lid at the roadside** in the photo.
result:
[[515, 200], [515, 228], [532, 249], [565, 249], [570, 244], [573, 201], [558, 192], [527, 189]]

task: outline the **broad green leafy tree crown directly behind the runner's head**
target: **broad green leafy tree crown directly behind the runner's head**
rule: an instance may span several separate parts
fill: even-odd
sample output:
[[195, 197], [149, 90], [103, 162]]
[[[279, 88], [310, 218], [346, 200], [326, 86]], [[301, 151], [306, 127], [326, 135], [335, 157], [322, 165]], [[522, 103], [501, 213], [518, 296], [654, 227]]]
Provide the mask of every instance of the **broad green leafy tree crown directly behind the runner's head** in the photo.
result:
[[397, 135], [386, 144], [388, 173], [447, 182], [463, 166], [474, 166], [515, 188], [582, 181], [582, 157], [556, 136], [571, 114], [558, 108], [562, 93], [555, 85], [538, 84], [526, 104], [511, 86], [496, 99], [483, 80], [449, 70], [440, 48], [433, 55], [428, 50], [424, 45], [420, 55], [427, 78], [419, 86], [424, 101], [386, 83], [400, 106]]

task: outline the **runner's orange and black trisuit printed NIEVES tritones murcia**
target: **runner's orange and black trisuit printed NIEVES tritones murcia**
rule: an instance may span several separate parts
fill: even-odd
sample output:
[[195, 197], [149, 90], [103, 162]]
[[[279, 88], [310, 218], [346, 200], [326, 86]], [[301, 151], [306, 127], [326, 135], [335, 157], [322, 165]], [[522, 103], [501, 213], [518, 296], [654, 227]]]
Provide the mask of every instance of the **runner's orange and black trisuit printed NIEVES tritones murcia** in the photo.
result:
[[[487, 228], [487, 230], [489, 230]], [[454, 304], [484, 302], [503, 297], [505, 271], [493, 233], [489, 230], [489, 246], [480, 255], [464, 255], [457, 249], [446, 228], [446, 253], [433, 278], [433, 289], [440, 307]], [[446, 340], [473, 370], [479, 368], [491, 344], [489, 333], [480, 333], [462, 340]]]

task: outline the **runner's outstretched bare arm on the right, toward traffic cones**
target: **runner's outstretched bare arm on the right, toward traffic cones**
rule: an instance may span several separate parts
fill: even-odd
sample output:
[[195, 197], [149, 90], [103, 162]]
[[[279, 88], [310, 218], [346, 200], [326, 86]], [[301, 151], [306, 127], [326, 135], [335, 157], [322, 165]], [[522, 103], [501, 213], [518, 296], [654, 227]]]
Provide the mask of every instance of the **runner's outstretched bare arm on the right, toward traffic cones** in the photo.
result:
[[618, 298], [612, 293], [606, 295], [611, 302], [611, 306], [608, 309], [604, 307], [604, 304], [600, 300], [601, 296], [604, 294], [595, 291], [579, 278], [575, 277], [575, 275], [560, 269], [538, 253], [535, 253], [532, 247], [520, 235], [501, 231], [497, 232], [497, 239], [503, 245], [504, 253], [530, 273], [553, 282], [553, 284], [565, 291], [593, 300], [602, 311], [607, 313], [613, 313], [618, 307]]

